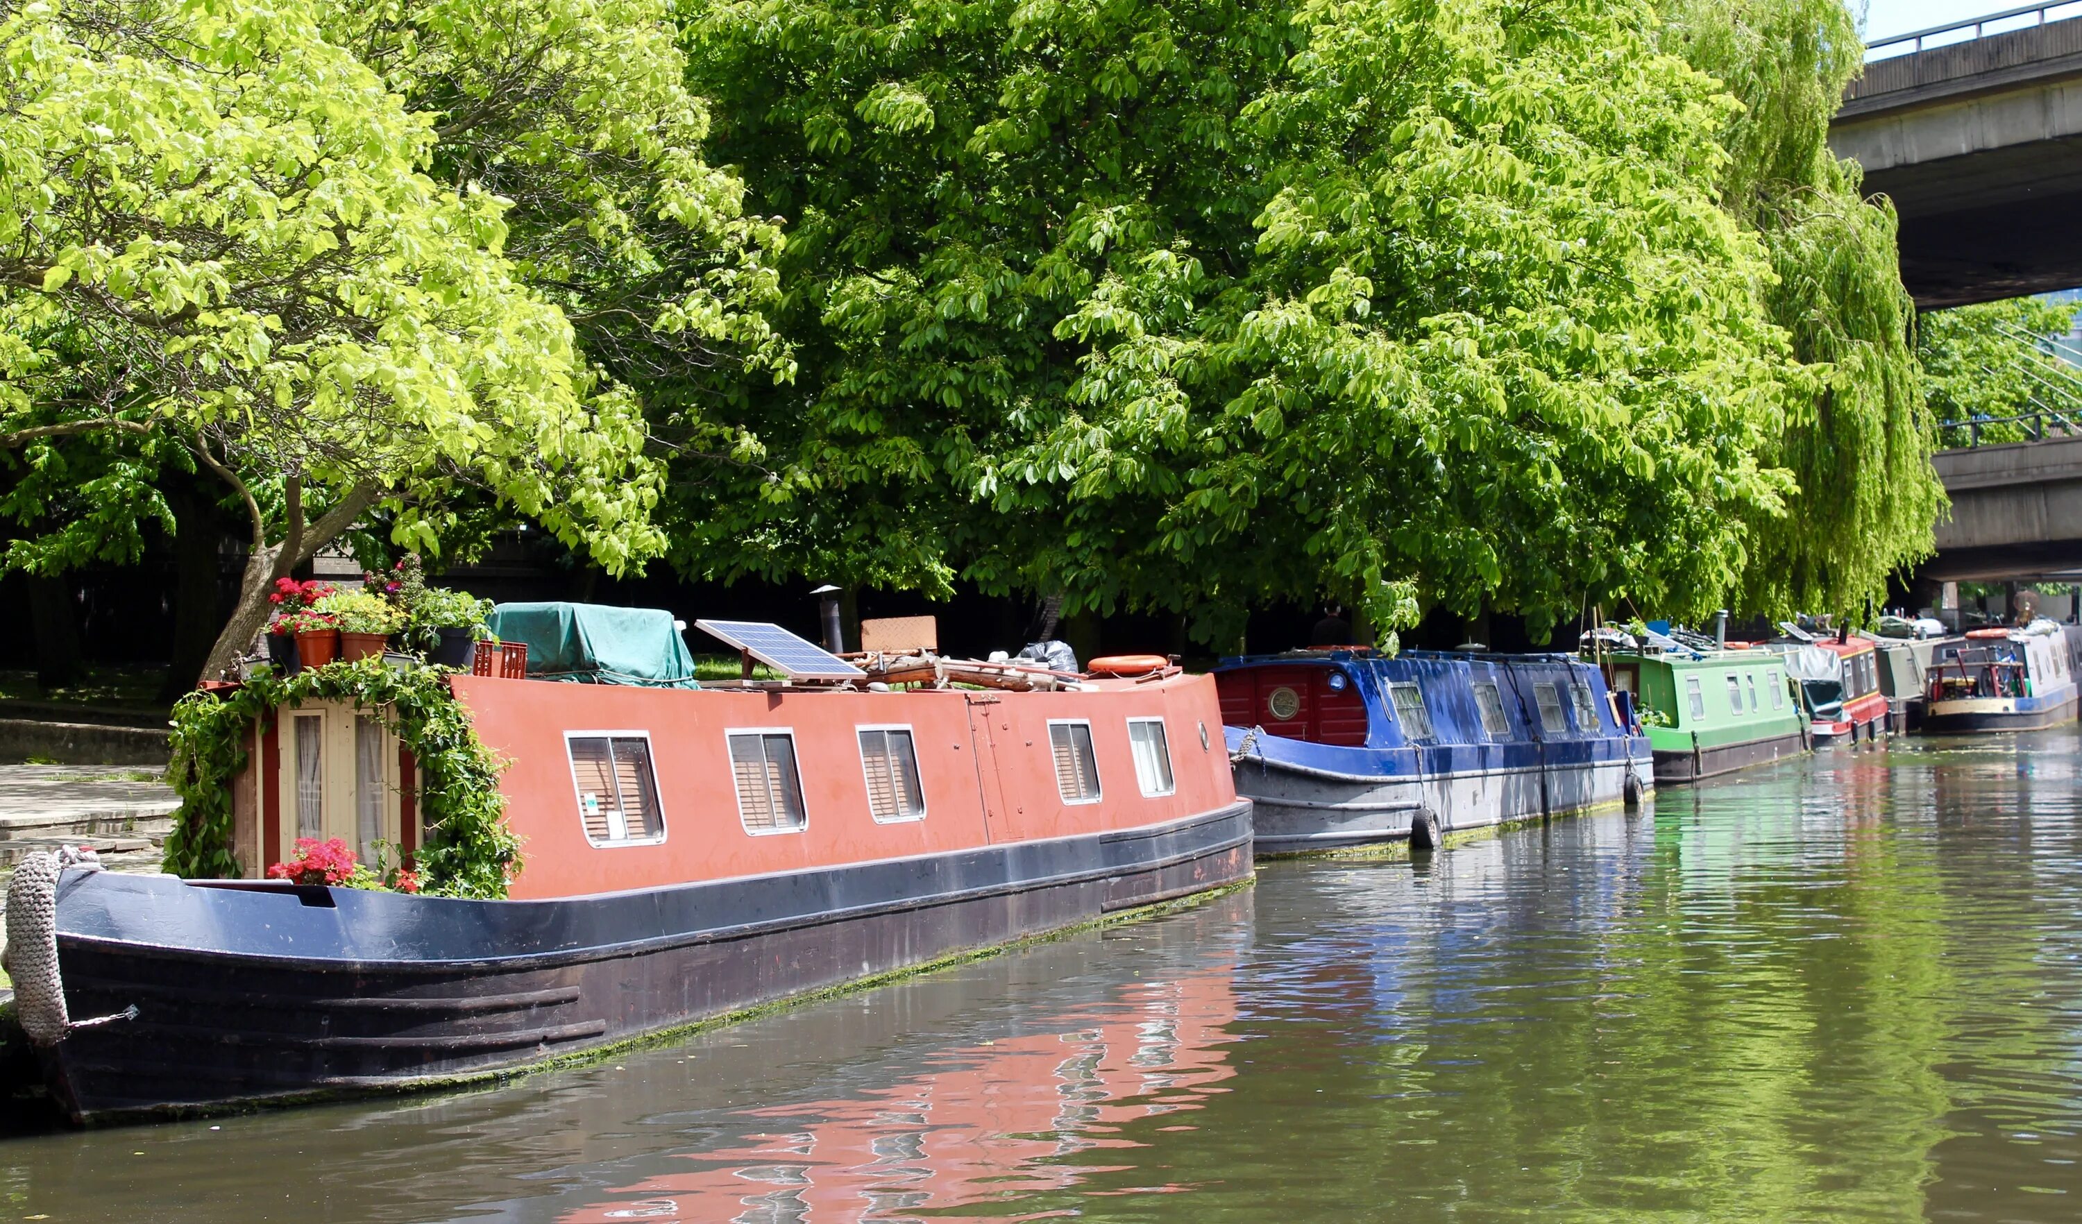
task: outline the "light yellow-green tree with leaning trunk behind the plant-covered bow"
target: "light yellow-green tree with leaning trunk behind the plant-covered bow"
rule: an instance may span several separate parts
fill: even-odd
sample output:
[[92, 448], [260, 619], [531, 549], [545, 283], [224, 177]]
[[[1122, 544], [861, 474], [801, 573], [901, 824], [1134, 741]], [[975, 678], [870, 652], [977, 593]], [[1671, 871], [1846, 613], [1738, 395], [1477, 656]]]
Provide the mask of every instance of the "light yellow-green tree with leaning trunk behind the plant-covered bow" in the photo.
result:
[[[400, 541], [433, 543], [475, 487], [610, 570], [660, 543], [633, 398], [516, 279], [504, 202], [423, 173], [433, 117], [329, 42], [329, 17], [0, 17], [0, 450], [31, 470], [58, 439], [183, 450], [235, 491], [252, 556], [206, 670], [250, 641], [275, 577], [379, 504]], [[17, 564], [77, 558], [79, 522]]]

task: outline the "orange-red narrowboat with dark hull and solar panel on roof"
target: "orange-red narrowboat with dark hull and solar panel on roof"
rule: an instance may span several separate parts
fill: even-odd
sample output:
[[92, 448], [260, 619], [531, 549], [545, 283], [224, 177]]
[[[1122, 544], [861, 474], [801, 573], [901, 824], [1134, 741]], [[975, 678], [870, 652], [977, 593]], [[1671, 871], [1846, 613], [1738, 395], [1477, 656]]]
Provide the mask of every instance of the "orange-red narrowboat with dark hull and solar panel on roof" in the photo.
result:
[[502, 899], [260, 878], [298, 839], [429, 845], [381, 712], [264, 710], [231, 783], [246, 878], [58, 876], [69, 1016], [112, 1020], [44, 1049], [54, 1097], [92, 1122], [452, 1082], [1251, 874], [1210, 677], [862, 672], [750, 629], [745, 670], [789, 679], [448, 677], [506, 762]]

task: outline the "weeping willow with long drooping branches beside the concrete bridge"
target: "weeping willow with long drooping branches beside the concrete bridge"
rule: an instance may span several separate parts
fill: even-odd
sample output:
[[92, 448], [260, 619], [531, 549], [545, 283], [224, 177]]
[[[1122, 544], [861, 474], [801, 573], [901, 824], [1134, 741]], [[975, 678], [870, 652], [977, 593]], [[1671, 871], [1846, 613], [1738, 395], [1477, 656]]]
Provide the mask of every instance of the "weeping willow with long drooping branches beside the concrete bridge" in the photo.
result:
[[1799, 491], [1749, 520], [1738, 604], [1861, 614], [1932, 552], [1945, 508], [1895, 210], [1863, 198], [1857, 164], [1828, 148], [1865, 44], [1843, 0], [1664, 0], [1661, 15], [1659, 46], [1743, 102], [1722, 131], [1722, 202], [1763, 239], [1763, 302], [1818, 375], [1759, 456]]

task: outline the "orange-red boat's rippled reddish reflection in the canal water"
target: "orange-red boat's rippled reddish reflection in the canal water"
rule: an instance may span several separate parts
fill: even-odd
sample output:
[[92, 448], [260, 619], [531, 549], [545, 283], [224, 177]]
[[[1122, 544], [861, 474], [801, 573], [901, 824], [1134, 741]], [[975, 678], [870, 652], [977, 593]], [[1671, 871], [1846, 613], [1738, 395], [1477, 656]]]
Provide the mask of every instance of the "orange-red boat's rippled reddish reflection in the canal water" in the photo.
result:
[[[752, 1112], [756, 1143], [689, 1153], [614, 1199], [564, 1216], [614, 1220], [874, 1220], [941, 1212], [1074, 1184], [1060, 1157], [1135, 1147], [1120, 1128], [1185, 1114], [1235, 1074], [1222, 1030], [1237, 1014], [1228, 974], [1137, 983], [1124, 997], [1060, 1016], [1051, 1032], [939, 1055], [943, 1070], [847, 1101]], [[1180, 1120], [1183, 1124], [1183, 1120]], [[1164, 1191], [1168, 1187], [1149, 1187]]]

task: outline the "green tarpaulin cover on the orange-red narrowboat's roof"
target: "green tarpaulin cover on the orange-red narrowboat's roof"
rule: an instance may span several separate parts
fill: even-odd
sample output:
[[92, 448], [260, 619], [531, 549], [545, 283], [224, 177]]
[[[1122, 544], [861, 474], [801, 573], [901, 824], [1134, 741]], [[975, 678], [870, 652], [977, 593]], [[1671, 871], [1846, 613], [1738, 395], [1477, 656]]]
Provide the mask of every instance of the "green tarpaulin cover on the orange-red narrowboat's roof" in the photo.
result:
[[672, 614], [658, 608], [500, 604], [491, 610], [491, 633], [525, 641], [527, 674], [541, 681], [702, 687]]

